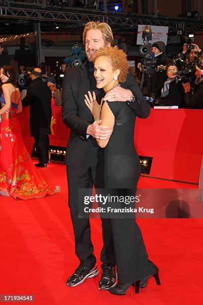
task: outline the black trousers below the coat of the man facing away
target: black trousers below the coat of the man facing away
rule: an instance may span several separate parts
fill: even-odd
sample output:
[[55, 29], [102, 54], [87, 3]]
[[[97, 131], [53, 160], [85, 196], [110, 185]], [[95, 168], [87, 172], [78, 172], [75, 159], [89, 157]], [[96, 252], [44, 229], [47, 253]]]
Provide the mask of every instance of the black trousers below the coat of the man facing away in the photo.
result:
[[47, 163], [49, 160], [48, 148], [49, 148], [49, 136], [48, 135], [36, 135], [34, 141], [37, 149], [39, 163]]

